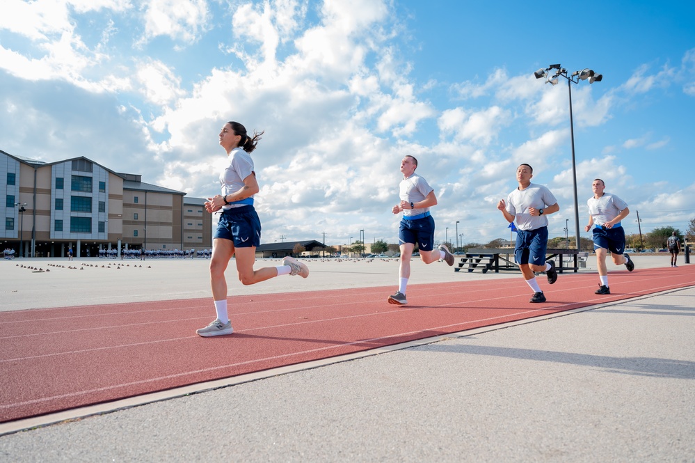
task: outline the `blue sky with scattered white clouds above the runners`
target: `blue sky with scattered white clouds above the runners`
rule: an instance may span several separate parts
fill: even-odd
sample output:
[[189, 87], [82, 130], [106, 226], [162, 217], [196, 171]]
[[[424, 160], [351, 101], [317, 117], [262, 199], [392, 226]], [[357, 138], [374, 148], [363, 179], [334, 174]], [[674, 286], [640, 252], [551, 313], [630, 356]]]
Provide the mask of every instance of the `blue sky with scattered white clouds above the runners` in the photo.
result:
[[[396, 242], [399, 163], [434, 187], [436, 240], [509, 237], [496, 205], [516, 166], [574, 207], [591, 181], [632, 213], [627, 233], [695, 217], [692, 1], [5, 0], [0, 149], [85, 156], [145, 182], [218, 193], [227, 120], [265, 130], [253, 153], [262, 242]], [[449, 230], [447, 231], [447, 227]]]

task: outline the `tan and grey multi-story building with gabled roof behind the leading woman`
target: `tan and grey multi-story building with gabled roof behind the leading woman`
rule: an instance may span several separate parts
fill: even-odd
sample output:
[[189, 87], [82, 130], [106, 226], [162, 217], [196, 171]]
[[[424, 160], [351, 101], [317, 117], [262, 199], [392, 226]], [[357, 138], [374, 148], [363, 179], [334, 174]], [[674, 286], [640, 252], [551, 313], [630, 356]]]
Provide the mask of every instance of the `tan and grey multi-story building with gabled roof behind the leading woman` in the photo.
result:
[[[202, 198], [117, 173], [86, 157], [41, 162], [0, 150], [0, 246], [17, 256], [97, 256], [100, 249], [207, 249]], [[20, 251], [21, 248], [21, 251]]]

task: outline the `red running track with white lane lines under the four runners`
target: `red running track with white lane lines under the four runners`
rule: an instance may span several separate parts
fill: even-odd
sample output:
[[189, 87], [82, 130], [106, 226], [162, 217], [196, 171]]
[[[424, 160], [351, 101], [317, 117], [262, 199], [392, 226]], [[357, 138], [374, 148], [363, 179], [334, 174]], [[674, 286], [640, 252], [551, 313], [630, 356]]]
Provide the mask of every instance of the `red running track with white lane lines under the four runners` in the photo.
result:
[[[548, 301], [530, 304], [515, 278], [351, 288], [229, 298], [231, 336], [200, 338], [211, 299], [0, 313], [0, 423], [548, 315], [694, 284], [695, 266], [611, 272], [612, 295], [593, 294], [597, 274], [539, 279]], [[262, 284], [262, 283], [261, 283]]]

